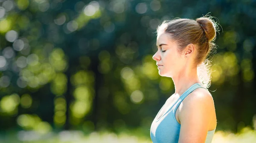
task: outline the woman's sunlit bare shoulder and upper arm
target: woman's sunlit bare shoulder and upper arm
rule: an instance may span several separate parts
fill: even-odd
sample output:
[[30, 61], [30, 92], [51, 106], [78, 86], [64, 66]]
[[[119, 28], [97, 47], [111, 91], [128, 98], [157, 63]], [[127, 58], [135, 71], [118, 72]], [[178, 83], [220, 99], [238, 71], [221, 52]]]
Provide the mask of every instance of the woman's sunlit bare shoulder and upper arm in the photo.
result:
[[212, 122], [215, 115], [212, 95], [208, 90], [198, 88], [187, 95], [182, 104], [179, 143], [204, 143], [207, 132], [215, 126]]

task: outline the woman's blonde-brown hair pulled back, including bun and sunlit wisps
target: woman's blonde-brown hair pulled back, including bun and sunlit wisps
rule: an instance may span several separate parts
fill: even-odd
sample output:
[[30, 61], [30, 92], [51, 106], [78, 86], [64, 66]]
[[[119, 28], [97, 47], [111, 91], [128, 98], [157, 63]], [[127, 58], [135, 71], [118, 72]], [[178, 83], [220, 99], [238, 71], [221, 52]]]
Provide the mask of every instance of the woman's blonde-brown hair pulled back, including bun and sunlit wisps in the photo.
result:
[[197, 45], [198, 55], [195, 59], [195, 65], [197, 66], [198, 78], [208, 88], [211, 84], [212, 70], [210, 60], [207, 57], [216, 48], [213, 42], [216, 39], [216, 31], [218, 31], [217, 22], [208, 15], [196, 20], [175, 18], [174, 20], [163, 21], [157, 28], [157, 33], [159, 31], [169, 33], [172, 39], [177, 42], [179, 51], [184, 50], [190, 43]]

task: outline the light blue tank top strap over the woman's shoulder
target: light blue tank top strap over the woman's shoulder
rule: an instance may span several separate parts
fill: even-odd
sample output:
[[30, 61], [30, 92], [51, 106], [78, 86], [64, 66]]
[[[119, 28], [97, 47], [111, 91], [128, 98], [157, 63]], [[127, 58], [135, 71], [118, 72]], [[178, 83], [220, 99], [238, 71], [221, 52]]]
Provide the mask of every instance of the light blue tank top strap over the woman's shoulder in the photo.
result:
[[176, 112], [177, 108], [179, 107], [180, 103], [186, 98], [187, 95], [189, 95], [190, 93], [192, 93], [192, 91], [198, 89], [198, 88], [204, 88], [206, 90], [208, 90], [206, 87], [203, 86], [203, 84], [200, 83], [195, 83], [193, 84], [191, 87], [189, 87], [178, 99], [178, 101], [175, 103], [175, 108], [174, 111]]

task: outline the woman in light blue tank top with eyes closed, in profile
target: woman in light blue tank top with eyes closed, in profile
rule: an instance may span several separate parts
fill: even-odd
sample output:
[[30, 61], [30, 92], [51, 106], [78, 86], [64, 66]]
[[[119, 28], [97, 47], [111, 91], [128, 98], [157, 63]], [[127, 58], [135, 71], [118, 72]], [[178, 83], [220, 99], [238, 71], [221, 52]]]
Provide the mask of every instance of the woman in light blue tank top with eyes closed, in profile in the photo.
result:
[[153, 59], [160, 76], [171, 77], [175, 93], [151, 124], [153, 143], [211, 143], [216, 115], [208, 53], [214, 48], [215, 23], [208, 17], [164, 21], [157, 28]]

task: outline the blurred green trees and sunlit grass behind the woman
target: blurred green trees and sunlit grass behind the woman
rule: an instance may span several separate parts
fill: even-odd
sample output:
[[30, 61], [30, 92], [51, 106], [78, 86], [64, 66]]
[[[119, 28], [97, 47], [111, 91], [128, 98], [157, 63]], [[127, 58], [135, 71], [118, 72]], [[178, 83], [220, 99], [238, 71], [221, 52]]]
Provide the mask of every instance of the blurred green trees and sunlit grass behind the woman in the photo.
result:
[[213, 143], [256, 140], [256, 0], [0, 0], [1, 143], [150, 143], [156, 28], [210, 13]]

